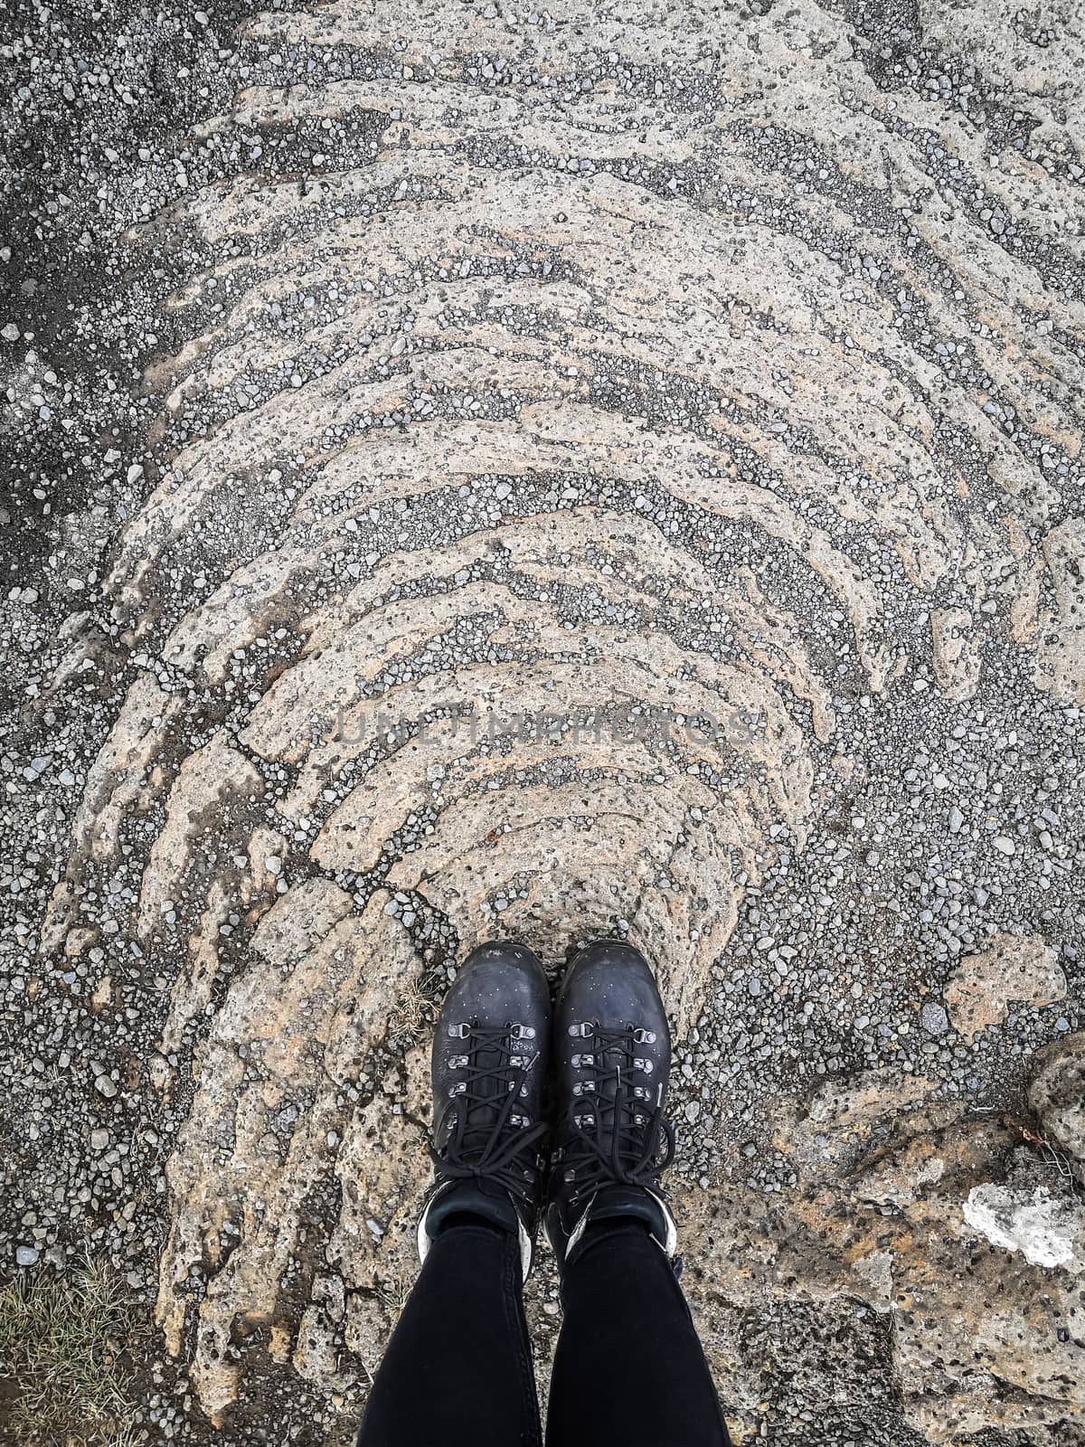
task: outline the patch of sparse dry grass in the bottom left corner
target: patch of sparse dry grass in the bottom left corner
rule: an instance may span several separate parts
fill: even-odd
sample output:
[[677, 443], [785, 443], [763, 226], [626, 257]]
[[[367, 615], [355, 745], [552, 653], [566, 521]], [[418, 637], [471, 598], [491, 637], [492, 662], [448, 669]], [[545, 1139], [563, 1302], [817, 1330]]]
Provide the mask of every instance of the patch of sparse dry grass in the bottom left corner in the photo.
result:
[[[13, 1389], [16, 1447], [136, 1447], [124, 1353], [139, 1331], [124, 1282], [88, 1262], [65, 1281], [46, 1270], [0, 1288], [0, 1376]], [[3, 1424], [0, 1424], [0, 1428]]]

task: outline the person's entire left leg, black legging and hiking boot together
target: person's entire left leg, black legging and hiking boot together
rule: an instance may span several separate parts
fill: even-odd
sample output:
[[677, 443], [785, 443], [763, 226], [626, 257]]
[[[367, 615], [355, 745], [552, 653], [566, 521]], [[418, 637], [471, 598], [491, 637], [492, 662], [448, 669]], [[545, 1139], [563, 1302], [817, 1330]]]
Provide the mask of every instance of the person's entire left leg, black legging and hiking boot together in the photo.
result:
[[422, 1269], [366, 1402], [359, 1447], [537, 1447], [524, 1320], [541, 1195], [550, 987], [522, 945], [473, 949], [433, 1040], [434, 1184]]

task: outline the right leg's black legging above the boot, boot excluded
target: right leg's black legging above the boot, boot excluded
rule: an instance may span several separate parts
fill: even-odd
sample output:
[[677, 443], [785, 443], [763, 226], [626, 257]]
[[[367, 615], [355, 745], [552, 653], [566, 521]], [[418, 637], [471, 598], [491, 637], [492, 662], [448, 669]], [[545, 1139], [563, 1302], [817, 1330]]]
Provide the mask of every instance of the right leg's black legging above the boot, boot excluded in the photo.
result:
[[550, 1447], [728, 1447], [686, 1298], [645, 1226], [589, 1226], [563, 1272], [561, 1308]]

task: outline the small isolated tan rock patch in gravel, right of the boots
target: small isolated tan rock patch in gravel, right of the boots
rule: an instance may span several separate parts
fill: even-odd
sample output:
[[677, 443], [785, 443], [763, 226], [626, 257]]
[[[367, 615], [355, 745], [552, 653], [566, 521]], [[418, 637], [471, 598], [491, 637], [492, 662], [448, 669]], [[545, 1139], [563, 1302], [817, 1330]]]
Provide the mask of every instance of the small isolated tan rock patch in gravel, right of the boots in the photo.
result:
[[995, 1024], [1011, 1001], [1052, 1004], [1066, 997], [1058, 951], [1039, 935], [995, 935], [977, 955], [965, 955], [946, 985], [946, 1007], [962, 1035]]

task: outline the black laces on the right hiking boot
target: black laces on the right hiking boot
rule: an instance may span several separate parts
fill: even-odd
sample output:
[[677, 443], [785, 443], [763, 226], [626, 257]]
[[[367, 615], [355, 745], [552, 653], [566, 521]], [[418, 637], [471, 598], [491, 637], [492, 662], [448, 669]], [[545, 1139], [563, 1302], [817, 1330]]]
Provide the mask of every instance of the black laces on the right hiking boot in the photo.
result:
[[[642, 1082], [648, 1079], [634, 1064], [637, 1032], [632, 1026], [625, 1030], [595, 1026], [586, 1043], [592, 1055], [583, 1075], [587, 1088], [569, 1113], [563, 1152], [566, 1169], [576, 1172], [573, 1197], [603, 1185], [657, 1188], [674, 1159], [674, 1127], [664, 1119], [663, 1103], [652, 1108], [635, 1094], [647, 1088]], [[613, 1056], [610, 1064], [609, 1056]]]

